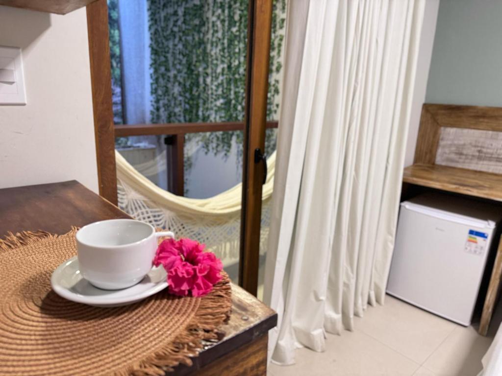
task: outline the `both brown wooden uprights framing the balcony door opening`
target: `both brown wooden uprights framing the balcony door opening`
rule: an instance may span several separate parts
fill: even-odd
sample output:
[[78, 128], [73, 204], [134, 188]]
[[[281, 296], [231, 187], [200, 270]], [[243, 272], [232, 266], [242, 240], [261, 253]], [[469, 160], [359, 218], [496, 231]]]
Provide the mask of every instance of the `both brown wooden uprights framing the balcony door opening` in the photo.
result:
[[[244, 118], [239, 285], [256, 296], [260, 257], [263, 163], [273, 0], [249, 0]], [[117, 204], [115, 127], [111, 99], [108, 7], [106, 0], [87, 6], [99, 195]], [[179, 156], [178, 156], [179, 157]]]

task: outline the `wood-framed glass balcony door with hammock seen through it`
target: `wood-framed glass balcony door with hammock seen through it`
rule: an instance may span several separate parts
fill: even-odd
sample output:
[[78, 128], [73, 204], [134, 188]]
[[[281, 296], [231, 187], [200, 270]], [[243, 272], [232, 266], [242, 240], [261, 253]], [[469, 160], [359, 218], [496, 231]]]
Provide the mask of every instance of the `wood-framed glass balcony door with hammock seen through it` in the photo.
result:
[[[265, 137], [268, 63], [261, 63], [272, 1], [99, 0], [87, 9], [93, 83], [106, 77], [92, 64], [107, 53], [93, 42], [102, 35], [103, 6], [118, 206], [206, 243], [231, 279], [256, 294], [259, 247], [249, 240], [260, 234], [263, 164], [254, 150], [274, 144]], [[100, 90], [93, 85], [95, 119]], [[277, 94], [271, 85], [270, 109]], [[108, 132], [104, 123], [95, 124], [97, 145]], [[113, 160], [97, 152], [108, 168]], [[252, 234], [247, 244], [244, 233]]]

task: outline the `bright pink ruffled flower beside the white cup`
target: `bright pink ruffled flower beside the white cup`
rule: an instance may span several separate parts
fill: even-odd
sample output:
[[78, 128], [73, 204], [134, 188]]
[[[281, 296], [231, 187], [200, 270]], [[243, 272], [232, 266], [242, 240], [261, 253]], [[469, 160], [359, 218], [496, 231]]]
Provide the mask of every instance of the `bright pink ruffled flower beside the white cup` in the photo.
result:
[[166, 269], [172, 294], [203, 296], [221, 281], [221, 260], [204, 248], [204, 244], [186, 238], [167, 239], [159, 245], [153, 263]]

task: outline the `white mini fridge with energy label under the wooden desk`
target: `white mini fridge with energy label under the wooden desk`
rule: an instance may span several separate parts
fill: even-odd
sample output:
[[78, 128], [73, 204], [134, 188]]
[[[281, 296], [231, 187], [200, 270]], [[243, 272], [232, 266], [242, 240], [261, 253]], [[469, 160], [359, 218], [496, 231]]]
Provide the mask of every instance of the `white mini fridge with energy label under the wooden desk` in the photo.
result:
[[469, 325], [500, 218], [496, 206], [436, 193], [403, 202], [387, 292]]

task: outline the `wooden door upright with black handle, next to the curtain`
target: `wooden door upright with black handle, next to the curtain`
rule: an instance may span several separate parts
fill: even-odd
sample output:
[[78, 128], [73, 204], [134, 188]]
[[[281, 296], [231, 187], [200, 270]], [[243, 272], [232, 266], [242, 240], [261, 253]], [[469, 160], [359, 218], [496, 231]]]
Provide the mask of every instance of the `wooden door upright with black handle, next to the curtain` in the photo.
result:
[[269, 87], [272, 0], [250, 0], [247, 33], [247, 75], [240, 219], [239, 285], [256, 296], [260, 258], [263, 162], [255, 150], [265, 152], [267, 92]]

